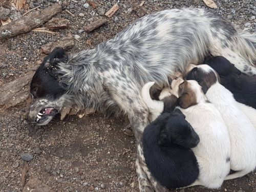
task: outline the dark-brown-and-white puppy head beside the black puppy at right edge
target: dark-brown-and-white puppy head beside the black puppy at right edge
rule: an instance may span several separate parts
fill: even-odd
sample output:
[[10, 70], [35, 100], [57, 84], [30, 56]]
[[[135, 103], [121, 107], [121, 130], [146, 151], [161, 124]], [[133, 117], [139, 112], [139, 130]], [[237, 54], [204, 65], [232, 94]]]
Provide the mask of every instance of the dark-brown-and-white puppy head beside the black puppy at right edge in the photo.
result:
[[195, 66], [190, 64], [186, 75], [187, 80], [196, 80], [202, 87], [204, 93], [215, 83], [218, 83], [219, 75], [208, 65]]

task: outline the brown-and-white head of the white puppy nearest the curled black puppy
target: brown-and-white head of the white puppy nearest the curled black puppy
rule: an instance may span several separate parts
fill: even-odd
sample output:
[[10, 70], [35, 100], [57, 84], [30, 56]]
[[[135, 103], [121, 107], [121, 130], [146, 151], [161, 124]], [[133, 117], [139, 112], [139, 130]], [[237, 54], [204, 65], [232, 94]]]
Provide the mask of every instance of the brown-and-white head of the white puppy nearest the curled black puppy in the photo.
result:
[[183, 108], [196, 105], [197, 103], [206, 101], [201, 86], [195, 80], [186, 80], [179, 85], [179, 98], [177, 104]]

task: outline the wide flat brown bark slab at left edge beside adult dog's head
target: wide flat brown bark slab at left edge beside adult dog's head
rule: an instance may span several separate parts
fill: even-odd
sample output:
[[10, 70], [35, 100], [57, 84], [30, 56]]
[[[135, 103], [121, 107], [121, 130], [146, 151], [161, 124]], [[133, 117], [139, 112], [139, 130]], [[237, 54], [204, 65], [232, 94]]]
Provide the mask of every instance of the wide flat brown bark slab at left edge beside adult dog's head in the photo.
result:
[[33, 73], [27, 74], [25, 77], [18, 78], [12, 82], [5, 83], [0, 87], [0, 106], [10, 108], [29, 98], [29, 82], [33, 77]]

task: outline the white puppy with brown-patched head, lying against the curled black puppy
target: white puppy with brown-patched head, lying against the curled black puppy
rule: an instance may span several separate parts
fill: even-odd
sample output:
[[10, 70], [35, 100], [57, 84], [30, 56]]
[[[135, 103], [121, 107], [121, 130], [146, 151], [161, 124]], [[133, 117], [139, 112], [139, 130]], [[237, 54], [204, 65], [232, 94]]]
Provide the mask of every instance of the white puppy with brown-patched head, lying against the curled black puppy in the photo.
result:
[[181, 81], [173, 80], [171, 91], [178, 90], [176, 94], [180, 97], [177, 103], [181, 112], [200, 137], [199, 144], [192, 148], [199, 164], [199, 177], [190, 186], [219, 188], [230, 170], [227, 127], [220, 112], [206, 99], [197, 81]]

